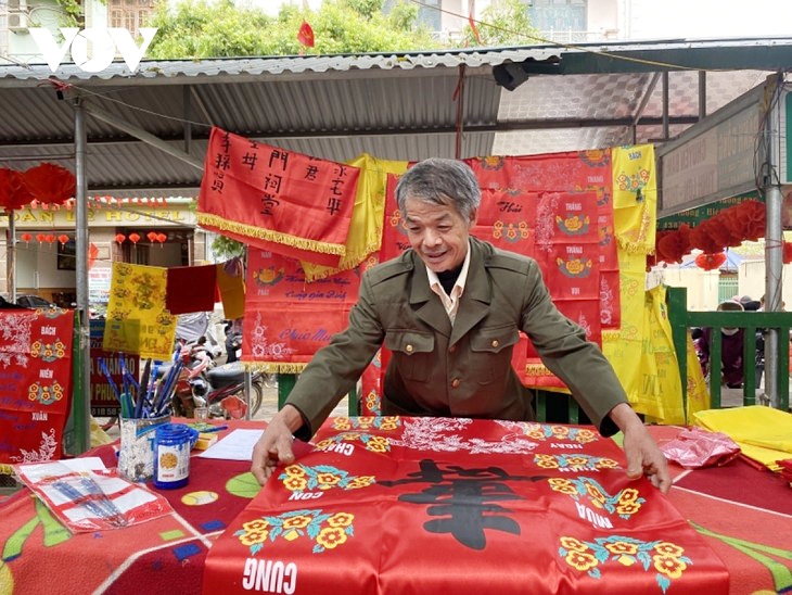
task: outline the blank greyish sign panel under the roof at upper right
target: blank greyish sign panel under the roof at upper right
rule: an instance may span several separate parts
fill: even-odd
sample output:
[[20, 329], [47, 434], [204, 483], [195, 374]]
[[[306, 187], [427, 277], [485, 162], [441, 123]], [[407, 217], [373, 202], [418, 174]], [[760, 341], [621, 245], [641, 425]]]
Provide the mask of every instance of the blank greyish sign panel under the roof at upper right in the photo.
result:
[[764, 91], [755, 87], [657, 149], [659, 218], [756, 188]]

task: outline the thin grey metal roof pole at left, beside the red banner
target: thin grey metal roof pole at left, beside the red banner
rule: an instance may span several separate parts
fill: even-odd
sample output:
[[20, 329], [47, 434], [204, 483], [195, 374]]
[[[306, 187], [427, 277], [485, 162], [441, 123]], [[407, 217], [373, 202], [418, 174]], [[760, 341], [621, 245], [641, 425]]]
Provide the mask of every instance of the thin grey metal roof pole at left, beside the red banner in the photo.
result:
[[[80, 100], [74, 102], [74, 148], [75, 170], [77, 179], [76, 198], [76, 251], [75, 289], [77, 292], [77, 309], [79, 316], [79, 349], [82, 366], [79, 370], [82, 382], [80, 395], [75, 395], [74, 430], [76, 435], [75, 447], [85, 453], [91, 447], [91, 352], [90, 352], [90, 321], [88, 320], [88, 181], [86, 178], [86, 115]], [[78, 454], [79, 454], [78, 453]]]

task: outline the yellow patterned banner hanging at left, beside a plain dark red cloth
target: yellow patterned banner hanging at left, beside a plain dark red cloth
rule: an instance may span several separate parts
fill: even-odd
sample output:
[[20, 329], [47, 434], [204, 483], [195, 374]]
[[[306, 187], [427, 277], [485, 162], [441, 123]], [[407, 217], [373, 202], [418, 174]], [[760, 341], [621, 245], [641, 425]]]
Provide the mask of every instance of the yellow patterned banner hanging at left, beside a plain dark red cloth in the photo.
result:
[[105, 351], [170, 359], [176, 317], [165, 307], [167, 268], [113, 263]]

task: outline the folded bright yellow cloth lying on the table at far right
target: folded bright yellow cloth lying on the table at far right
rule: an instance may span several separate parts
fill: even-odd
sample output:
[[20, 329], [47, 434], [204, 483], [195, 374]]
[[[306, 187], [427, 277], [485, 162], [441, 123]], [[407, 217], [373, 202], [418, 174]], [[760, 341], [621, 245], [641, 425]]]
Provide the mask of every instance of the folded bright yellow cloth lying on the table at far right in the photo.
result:
[[724, 432], [737, 442], [742, 454], [780, 470], [776, 461], [792, 458], [792, 414], [751, 405], [698, 412], [695, 423], [713, 432]]

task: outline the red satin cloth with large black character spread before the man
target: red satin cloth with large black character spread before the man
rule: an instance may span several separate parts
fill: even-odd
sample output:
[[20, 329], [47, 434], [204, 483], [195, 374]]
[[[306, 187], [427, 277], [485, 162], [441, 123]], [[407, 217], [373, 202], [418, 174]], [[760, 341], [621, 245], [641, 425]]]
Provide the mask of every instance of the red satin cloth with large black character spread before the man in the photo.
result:
[[218, 539], [203, 592], [726, 593], [624, 465], [585, 427], [331, 419]]

